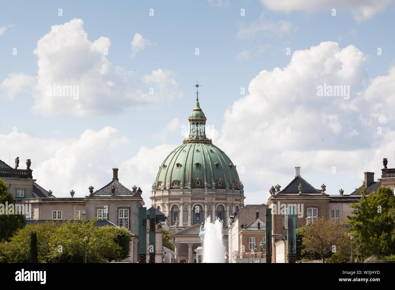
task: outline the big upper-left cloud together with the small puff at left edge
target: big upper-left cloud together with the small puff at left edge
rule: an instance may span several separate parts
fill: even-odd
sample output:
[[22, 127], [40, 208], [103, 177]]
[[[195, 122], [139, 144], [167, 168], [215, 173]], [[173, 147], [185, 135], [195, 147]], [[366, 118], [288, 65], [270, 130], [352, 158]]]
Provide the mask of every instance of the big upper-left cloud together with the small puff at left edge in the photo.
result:
[[[152, 75], [143, 79], [137, 79], [134, 73], [122, 67], [112, 72], [106, 58], [110, 45], [107, 37], [90, 41], [81, 19], [51, 26], [51, 31], [41, 37], [33, 51], [38, 57], [37, 81], [32, 91], [34, 112], [45, 112], [45, 116], [62, 112], [77, 116], [113, 114], [132, 106], [144, 109], [166, 99], [182, 97], [168, 70], [153, 70]], [[17, 77], [25, 81], [22, 88], [15, 87]], [[30, 84], [32, 78], [11, 75], [3, 81], [0, 90], [4, 91], [3, 95], [13, 97], [26, 83]], [[72, 88], [75, 94], [60, 90], [62, 96], [56, 96], [51, 89], [54, 84], [55, 88]], [[154, 87], [154, 94], [150, 94], [146, 84]]]

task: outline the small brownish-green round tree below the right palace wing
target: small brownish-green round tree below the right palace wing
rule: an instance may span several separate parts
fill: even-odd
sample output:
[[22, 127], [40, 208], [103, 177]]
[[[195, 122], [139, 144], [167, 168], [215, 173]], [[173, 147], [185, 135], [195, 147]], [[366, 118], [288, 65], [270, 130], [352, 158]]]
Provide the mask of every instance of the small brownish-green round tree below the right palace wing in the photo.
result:
[[304, 247], [301, 253], [318, 254], [323, 263], [332, 253], [348, 250], [350, 239], [341, 219], [321, 217], [314, 223], [303, 226], [301, 232]]

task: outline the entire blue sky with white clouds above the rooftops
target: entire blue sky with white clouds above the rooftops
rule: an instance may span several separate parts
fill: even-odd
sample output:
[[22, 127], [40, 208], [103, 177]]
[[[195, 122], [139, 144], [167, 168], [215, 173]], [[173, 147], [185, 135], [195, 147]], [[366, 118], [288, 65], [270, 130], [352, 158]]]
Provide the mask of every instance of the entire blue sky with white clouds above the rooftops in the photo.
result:
[[395, 167], [394, 14], [393, 0], [3, 2], [0, 159], [31, 159], [56, 197], [88, 195], [117, 167], [150, 206], [198, 81], [245, 204], [294, 166], [350, 194], [384, 157]]

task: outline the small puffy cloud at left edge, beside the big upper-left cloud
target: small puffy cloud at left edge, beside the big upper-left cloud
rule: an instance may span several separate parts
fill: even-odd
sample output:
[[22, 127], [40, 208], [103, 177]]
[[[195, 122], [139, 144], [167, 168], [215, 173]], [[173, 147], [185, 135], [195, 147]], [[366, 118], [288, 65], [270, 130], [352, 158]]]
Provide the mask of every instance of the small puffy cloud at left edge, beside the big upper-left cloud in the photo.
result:
[[7, 97], [12, 100], [15, 95], [32, 88], [35, 78], [24, 73], [11, 73], [7, 79], [0, 84], [0, 97]]

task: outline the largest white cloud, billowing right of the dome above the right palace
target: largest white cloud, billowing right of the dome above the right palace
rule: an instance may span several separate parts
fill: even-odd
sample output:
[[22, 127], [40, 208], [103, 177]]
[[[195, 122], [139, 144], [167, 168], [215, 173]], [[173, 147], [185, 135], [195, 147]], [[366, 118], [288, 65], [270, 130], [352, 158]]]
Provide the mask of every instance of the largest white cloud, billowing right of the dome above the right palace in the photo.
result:
[[[377, 156], [392, 152], [389, 148], [395, 142], [390, 138], [395, 128], [389, 122], [395, 106], [395, 69], [372, 80], [364, 91], [365, 61], [353, 45], [341, 49], [338, 43], [322, 42], [295, 51], [283, 69], [260, 71], [251, 80], [249, 95], [225, 112], [216, 144], [237, 164], [246, 196], [251, 197], [248, 203], [262, 202], [261, 190], [268, 197], [273, 183], [287, 185], [297, 164], [303, 168], [302, 176], [303, 172], [327, 174], [315, 187], [335, 178], [333, 167], [338, 179], [381, 168], [377, 163], [383, 157]], [[350, 99], [318, 97], [317, 86], [324, 83], [349, 85]], [[385, 122], [383, 133], [377, 134], [378, 125]], [[290, 174], [284, 174], [287, 168]], [[327, 189], [331, 194], [339, 190]]]

